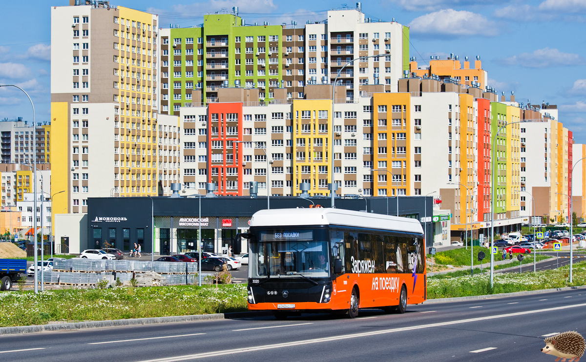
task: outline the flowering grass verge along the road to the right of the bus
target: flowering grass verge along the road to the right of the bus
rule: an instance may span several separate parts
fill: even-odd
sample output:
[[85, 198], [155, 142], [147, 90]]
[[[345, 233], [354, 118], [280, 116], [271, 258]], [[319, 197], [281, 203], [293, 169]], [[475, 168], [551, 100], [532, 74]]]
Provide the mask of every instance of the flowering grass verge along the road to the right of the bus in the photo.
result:
[[574, 264], [572, 283], [565, 277], [569, 272], [570, 266], [563, 266], [535, 273], [498, 273], [493, 275], [492, 288], [489, 274], [461, 278], [430, 277], [427, 280], [427, 298], [469, 297], [586, 285], [586, 262]]

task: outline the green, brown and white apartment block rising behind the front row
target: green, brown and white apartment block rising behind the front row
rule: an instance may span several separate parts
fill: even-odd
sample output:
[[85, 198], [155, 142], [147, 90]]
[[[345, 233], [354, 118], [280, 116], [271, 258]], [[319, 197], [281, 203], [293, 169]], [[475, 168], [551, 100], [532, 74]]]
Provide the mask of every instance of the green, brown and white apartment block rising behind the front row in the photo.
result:
[[279, 88], [287, 88], [286, 99], [304, 99], [305, 85], [335, 80], [347, 100], [373, 84], [396, 92], [408, 69], [408, 27], [371, 22], [360, 8], [327, 16], [305, 27], [248, 25], [234, 8], [205, 15], [198, 27], [162, 29], [161, 112], [179, 115], [186, 103], [217, 102], [219, 88], [234, 86], [258, 89], [247, 102], [279, 99]]

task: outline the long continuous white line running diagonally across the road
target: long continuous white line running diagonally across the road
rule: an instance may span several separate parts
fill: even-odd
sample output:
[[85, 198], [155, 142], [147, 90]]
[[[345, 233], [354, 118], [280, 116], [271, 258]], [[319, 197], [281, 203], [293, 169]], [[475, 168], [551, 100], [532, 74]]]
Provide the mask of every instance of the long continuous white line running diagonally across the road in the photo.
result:
[[177, 362], [177, 361], [195, 360], [195, 359], [199, 359], [199, 358], [226, 356], [227, 354], [236, 354], [236, 353], [260, 351], [260, 350], [277, 349], [277, 348], [283, 348], [283, 347], [301, 346], [304, 344], [325, 343], [325, 342], [332, 342], [332, 341], [344, 340], [344, 339], [352, 339], [352, 338], [358, 338], [358, 337], [385, 335], [387, 333], [404, 332], [407, 330], [434, 328], [434, 327], [457, 325], [457, 324], [461, 324], [461, 323], [470, 323], [470, 322], [481, 322], [481, 321], [484, 321], [487, 319], [510, 318], [513, 316], [520, 316], [520, 315], [527, 315], [527, 314], [534, 314], [534, 313], [546, 313], [546, 312], [552, 312], [552, 311], [561, 311], [563, 309], [577, 308], [577, 307], [586, 307], [586, 303], [556, 306], [553, 308], [546, 308], [546, 309], [536, 309], [533, 311], [523, 311], [523, 312], [516, 312], [516, 313], [483, 316], [483, 317], [478, 317], [478, 318], [451, 320], [449, 322], [430, 323], [430, 324], [426, 324], [426, 325], [375, 330], [372, 332], [353, 333], [351, 335], [322, 337], [322, 338], [315, 338], [315, 339], [299, 340], [299, 341], [294, 341], [294, 342], [264, 344], [263, 346], [253, 346], [253, 347], [244, 347], [244, 348], [231, 349], [231, 350], [220, 350], [220, 351], [203, 352], [203, 353], [196, 353], [196, 354], [186, 354], [183, 356], [156, 358], [155, 360], [143, 360], [143, 361], [138, 361], [138, 362]]

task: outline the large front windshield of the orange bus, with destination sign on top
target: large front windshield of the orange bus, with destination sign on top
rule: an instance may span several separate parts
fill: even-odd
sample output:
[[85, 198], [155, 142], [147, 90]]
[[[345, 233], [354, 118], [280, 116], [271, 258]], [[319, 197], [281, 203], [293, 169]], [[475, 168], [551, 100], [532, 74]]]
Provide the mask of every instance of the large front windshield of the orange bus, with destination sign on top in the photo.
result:
[[329, 277], [325, 230], [261, 230], [255, 235], [248, 256], [249, 277]]

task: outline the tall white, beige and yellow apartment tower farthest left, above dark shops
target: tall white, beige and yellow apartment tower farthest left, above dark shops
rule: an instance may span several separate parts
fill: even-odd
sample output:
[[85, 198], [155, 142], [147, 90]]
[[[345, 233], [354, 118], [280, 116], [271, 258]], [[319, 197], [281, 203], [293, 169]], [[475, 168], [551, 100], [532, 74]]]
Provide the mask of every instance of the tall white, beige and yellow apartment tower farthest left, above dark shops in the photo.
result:
[[52, 12], [53, 189], [60, 213], [92, 196], [170, 192], [179, 123], [158, 116], [158, 16], [71, 0]]

